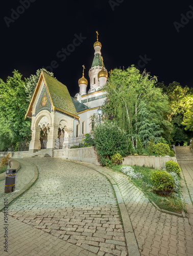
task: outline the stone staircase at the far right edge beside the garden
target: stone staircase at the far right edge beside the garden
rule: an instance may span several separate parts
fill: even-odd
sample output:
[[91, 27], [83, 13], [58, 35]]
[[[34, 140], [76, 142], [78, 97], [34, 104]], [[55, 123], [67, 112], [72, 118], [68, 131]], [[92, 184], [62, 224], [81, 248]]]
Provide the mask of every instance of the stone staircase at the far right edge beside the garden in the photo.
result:
[[176, 146], [176, 159], [178, 163], [192, 163], [193, 153], [189, 146]]

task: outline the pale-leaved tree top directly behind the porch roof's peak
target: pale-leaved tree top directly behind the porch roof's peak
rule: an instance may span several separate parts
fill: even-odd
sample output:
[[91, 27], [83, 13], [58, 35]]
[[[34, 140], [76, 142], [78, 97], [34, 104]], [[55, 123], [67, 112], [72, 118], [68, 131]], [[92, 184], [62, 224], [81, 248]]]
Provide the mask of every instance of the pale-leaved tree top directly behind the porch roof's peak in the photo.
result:
[[25, 84], [25, 90], [26, 90], [26, 94], [27, 94], [27, 101], [30, 102], [32, 99], [32, 96], [34, 94], [37, 82], [39, 80], [41, 71], [46, 72], [47, 74], [49, 74], [50, 76], [54, 77], [54, 74], [45, 70], [45, 69], [38, 69], [36, 71], [35, 75], [31, 75], [29, 78], [26, 79], [26, 84]]

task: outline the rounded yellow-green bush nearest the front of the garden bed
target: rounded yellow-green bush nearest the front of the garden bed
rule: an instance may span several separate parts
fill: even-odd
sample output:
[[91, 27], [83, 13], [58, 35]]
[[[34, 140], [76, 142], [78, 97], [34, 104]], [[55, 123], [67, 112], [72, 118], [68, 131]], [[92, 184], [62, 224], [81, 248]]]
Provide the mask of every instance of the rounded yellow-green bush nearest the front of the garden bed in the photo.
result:
[[157, 170], [152, 174], [151, 180], [158, 190], [173, 192], [175, 188], [174, 177], [165, 170]]

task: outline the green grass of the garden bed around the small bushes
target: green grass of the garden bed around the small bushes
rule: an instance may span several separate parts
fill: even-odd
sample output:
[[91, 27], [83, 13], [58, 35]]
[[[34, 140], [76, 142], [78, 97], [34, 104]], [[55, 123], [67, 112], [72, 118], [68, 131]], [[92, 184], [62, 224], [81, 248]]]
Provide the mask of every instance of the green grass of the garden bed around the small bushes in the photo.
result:
[[[111, 167], [112, 170], [115, 172], [120, 172], [120, 168], [123, 165], [114, 165]], [[141, 173], [144, 177], [139, 180], [131, 179], [131, 182], [135, 184], [141, 191], [143, 191], [144, 195], [148, 197], [150, 201], [153, 201], [160, 209], [173, 211], [177, 213], [181, 213], [184, 209], [184, 203], [180, 198], [180, 191], [178, 191], [178, 196], [168, 195], [168, 194], [161, 194], [158, 193], [155, 188], [154, 184], [151, 180], [151, 176], [153, 172], [155, 172], [154, 168], [148, 167], [140, 167], [140, 166], [131, 166], [134, 168], [134, 172]]]

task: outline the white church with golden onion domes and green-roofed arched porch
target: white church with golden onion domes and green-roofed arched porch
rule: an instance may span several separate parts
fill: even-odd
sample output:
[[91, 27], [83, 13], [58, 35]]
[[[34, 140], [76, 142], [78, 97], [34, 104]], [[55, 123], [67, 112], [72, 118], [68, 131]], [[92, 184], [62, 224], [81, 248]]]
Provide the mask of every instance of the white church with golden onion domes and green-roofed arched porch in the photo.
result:
[[[32, 139], [29, 154], [46, 149], [53, 157], [55, 148], [68, 148], [68, 138], [79, 138], [90, 133], [93, 128], [93, 116], [103, 105], [106, 94], [102, 91], [107, 82], [108, 73], [101, 56], [101, 42], [94, 43], [94, 58], [88, 72], [88, 80], [83, 75], [79, 79], [79, 92], [71, 97], [67, 87], [54, 77], [42, 71], [31, 99], [26, 117], [32, 119]], [[88, 90], [88, 91], [87, 91]]]

